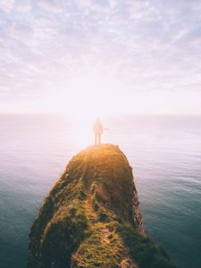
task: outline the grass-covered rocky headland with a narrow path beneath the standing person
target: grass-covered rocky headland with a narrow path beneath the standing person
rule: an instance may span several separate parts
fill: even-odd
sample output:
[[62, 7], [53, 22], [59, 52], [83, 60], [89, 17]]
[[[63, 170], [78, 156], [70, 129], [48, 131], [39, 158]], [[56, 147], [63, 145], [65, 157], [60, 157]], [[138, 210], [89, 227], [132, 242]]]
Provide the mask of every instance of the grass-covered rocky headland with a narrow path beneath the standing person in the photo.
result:
[[119, 147], [88, 147], [71, 159], [31, 228], [28, 267], [177, 267], [145, 233]]

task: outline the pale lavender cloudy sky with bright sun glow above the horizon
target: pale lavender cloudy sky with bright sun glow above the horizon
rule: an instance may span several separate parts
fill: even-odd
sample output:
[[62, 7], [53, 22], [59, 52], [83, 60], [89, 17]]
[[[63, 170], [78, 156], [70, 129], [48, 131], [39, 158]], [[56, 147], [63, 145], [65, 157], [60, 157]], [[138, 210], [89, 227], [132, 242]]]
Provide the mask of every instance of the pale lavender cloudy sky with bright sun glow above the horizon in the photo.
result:
[[0, 113], [201, 114], [201, 1], [0, 0]]

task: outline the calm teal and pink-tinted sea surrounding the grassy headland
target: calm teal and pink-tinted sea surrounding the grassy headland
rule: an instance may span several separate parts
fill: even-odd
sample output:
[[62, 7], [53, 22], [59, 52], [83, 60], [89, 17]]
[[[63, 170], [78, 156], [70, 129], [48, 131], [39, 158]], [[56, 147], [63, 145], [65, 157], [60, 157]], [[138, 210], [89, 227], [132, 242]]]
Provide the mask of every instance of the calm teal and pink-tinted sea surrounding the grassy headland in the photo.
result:
[[[133, 166], [144, 225], [184, 268], [201, 267], [201, 117], [103, 118]], [[78, 135], [79, 134], [79, 135]], [[88, 135], [89, 137], [89, 135]], [[0, 267], [26, 267], [29, 229], [82, 132], [56, 115], [0, 115]]]

